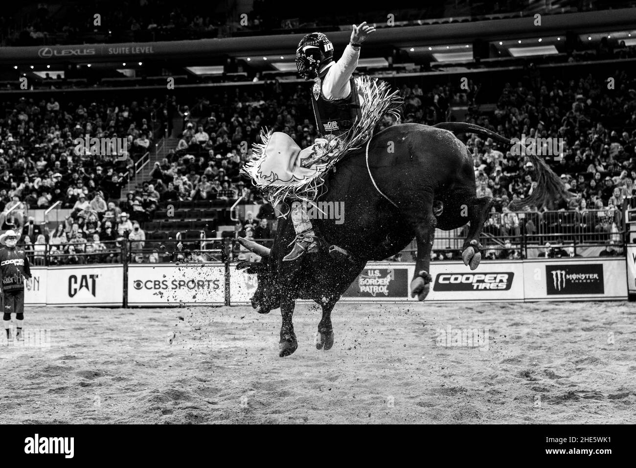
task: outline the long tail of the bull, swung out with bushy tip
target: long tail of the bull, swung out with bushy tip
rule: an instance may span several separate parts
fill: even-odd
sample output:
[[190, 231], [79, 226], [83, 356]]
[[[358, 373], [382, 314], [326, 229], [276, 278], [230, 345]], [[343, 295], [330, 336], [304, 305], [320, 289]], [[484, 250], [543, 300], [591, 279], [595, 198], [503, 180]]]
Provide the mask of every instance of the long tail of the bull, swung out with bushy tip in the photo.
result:
[[[438, 129], [444, 129], [453, 133], [474, 133], [481, 138], [492, 138], [493, 141], [504, 145], [512, 146], [515, 143], [508, 138], [493, 131], [480, 127], [479, 125], [466, 124], [464, 122], [441, 122], [433, 125]], [[537, 173], [537, 187], [532, 190], [532, 194], [522, 200], [513, 201], [510, 204], [512, 209], [520, 209], [525, 206], [544, 206], [548, 201], [568, 200], [570, 193], [565, 190], [561, 179], [554, 173], [543, 158], [537, 157], [534, 152], [524, 152], [528, 159], [534, 164]]]

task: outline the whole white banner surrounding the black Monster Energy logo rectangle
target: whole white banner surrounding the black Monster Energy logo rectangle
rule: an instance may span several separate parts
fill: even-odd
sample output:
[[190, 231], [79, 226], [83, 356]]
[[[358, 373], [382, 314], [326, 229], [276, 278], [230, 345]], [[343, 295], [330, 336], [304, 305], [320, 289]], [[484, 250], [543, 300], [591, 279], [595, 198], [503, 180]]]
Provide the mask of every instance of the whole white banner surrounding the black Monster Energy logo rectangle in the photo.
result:
[[626, 299], [625, 259], [527, 260], [523, 264], [527, 301]]

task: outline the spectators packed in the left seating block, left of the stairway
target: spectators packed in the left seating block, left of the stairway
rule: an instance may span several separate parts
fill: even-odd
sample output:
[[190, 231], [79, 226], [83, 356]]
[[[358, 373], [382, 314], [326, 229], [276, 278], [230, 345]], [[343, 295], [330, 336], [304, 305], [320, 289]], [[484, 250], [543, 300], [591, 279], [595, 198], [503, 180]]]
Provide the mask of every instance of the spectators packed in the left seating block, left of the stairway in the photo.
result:
[[[116, 243], [127, 230], [131, 239], [142, 237], [139, 223], [148, 220], [159, 202], [151, 184], [121, 201], [135, 160], [153, 144], [151, 115], [159, 107], [148, 99], [5, 101], [0, 229], [20, 232], [20, 243], [32, 252], [35, 264], [43, 262], [47, 246], [56, 264], [120, 261]], [[99, 139], [99, 150], [93, 141], [86, 144], [86, 136]], [[54, 204], [71, 214], [51, 232], [25, 217], [27, 209]], [[112, 252], [104, 252], [107, 246]], [[95, 255], [79, 255], [87, 252]]]

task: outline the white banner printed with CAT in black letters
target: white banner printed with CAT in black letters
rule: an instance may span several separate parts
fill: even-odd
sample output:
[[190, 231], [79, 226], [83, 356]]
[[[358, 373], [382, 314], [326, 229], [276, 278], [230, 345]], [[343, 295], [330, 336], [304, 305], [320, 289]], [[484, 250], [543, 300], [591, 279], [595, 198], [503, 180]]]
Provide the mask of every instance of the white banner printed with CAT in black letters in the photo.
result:
[[50, 267], [46, 276], [46, 304], [49, 306], [121, 306], [122, 304], [123, 268], [121, 265]]

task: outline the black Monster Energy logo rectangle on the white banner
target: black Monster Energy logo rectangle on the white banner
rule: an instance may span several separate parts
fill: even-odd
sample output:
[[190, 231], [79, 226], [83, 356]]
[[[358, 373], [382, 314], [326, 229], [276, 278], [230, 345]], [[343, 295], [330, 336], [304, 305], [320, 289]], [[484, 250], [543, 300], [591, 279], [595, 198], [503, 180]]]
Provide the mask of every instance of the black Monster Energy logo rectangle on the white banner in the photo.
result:
[[546, 265], [546, 292], [554, 294], [604, 294], [602, 264]]

